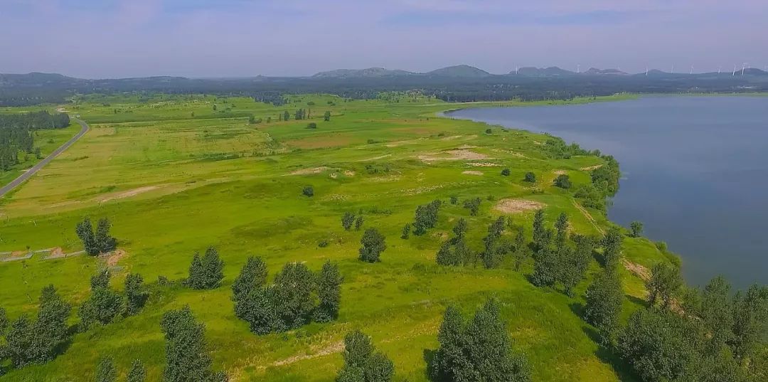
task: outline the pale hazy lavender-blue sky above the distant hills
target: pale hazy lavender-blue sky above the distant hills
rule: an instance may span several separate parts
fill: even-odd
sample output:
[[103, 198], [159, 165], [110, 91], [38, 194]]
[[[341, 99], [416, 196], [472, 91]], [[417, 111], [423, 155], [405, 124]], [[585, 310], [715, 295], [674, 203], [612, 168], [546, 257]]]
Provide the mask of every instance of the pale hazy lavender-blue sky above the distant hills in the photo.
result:
[[0, 0], [0, 73], [768, 65], [766, 0]]

